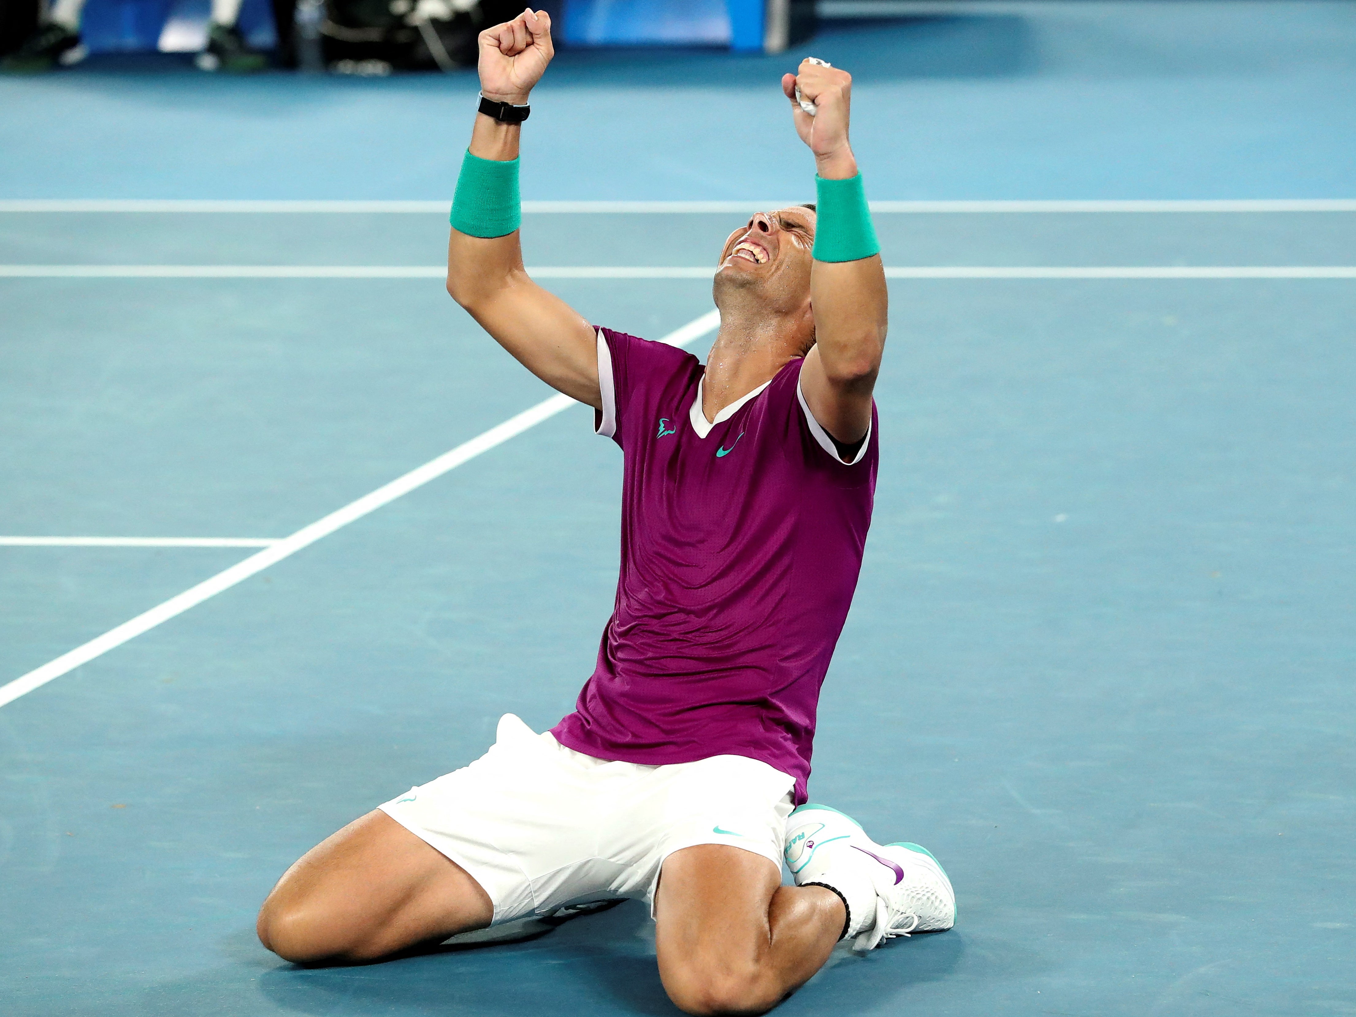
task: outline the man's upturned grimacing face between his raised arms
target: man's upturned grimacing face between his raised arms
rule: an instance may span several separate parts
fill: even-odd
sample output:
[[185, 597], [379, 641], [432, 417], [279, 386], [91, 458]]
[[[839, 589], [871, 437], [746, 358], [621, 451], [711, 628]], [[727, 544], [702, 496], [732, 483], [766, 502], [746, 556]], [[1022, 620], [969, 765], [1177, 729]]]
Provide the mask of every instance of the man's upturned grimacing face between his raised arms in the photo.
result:
[[721, 286], [758, 286], [770, 302], [793, 309], [810, 300], [815, 213], [792, 206], [759, 212], [725, 240], [716, 270]]

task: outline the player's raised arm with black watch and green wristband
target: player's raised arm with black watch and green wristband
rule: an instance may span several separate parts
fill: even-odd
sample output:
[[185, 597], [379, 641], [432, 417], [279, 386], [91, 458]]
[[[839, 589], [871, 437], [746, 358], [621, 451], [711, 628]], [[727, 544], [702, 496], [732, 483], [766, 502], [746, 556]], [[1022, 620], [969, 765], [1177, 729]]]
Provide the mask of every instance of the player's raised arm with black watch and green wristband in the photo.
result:
[[[480, 33], [481, 95], [526, 106], [553, 53], [551, 18], [545, 11], [527, 9], [511, 22], [487, 28]], [[514, 161], [521, 132], [518, 123], [476, 114], [447, 240], [447, 293], [527, 370], [567, 396], [601, 410], [593, 327], [534, 283], [522, 266]], [[511, 232], [496, 235], [499, 229]]]

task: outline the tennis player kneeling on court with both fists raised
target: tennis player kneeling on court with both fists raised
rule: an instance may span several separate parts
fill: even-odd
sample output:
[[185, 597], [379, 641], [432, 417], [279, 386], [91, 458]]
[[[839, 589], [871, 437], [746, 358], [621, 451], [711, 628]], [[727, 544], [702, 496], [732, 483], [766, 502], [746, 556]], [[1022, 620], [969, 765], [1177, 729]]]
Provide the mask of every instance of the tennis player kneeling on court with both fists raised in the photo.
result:
[[552, 53], [541, 11], [480, 37], [447, 290], [621, 446], [621, 576], [597, 669], [551, 731], [504, 716], [485, 755], [312, 849], [264, 902], [259, 938], [298, 963], [362, 963], [639, 898], [679, 1008], [763, 1013], [843, 938], [871, 949], [955, 921], [928, 852], [804, 804], [879, 449], [885, 279], [848, 142], [852, 79], [810, 61], [782, 77], [818, 202], [725, 240], [704, 367], [595, 328], [523, 270], [518, 138]]

